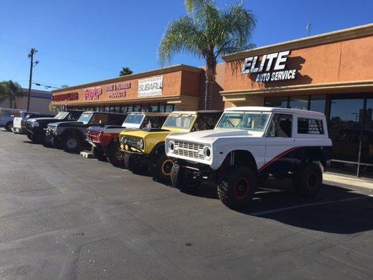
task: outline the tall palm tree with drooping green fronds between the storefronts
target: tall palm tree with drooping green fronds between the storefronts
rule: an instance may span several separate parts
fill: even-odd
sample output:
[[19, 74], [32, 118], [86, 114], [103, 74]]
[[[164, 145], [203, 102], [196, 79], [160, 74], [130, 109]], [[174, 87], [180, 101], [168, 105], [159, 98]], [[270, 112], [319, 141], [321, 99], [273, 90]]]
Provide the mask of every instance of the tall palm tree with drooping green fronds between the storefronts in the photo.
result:
[[204, 108], [209, 109], [218, 57], [253, 48], [249, 43], [255, 15], [243, 4], [217, 8], [213, 0], [185, 0], [187, 15], [173, 20], [164, 31], [158, 58], [162, 65], [178, 52], [190, 52], [206, 61]]

